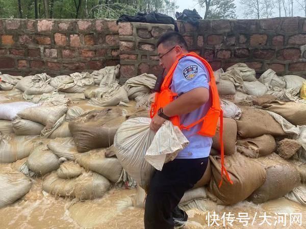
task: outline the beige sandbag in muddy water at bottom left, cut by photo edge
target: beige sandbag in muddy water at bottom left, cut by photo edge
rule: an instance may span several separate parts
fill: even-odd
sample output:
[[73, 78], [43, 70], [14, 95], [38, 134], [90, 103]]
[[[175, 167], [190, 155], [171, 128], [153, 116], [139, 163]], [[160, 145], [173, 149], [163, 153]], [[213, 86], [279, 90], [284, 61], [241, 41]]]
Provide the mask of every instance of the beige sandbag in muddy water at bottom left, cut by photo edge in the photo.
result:
[[27, 194], [32, 182], [20, 172], [0, 173], [0, 208], [10, 205]]

